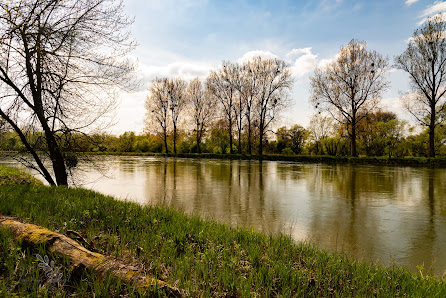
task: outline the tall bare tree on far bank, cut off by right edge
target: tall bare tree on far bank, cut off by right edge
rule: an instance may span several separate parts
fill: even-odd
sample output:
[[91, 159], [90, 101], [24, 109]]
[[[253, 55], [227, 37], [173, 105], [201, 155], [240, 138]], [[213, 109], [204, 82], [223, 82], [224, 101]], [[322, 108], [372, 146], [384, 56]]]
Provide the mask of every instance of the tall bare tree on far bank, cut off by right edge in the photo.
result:
[[435, 157], [435, 129], [446, 110], [446, 22], [440, 14], [415, 30], [395, 67], [410, 76], [412, 94], [403, 96], [406, 109], [429, 129], [429, 156]]

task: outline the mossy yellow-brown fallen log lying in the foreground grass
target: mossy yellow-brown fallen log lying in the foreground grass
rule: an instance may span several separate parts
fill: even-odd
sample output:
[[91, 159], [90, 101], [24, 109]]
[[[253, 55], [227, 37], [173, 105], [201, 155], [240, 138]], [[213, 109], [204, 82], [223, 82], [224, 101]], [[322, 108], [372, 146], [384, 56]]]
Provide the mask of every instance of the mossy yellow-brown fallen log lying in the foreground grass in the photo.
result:
[[9, 217], [0, 215], [0, 227], [11, 231], [17, 239], [22, 239], [31, 246], [44, 245], [49, 252], [67, 258], [73, 271], [93, 270], [99, 277], [109, 273], [126, 284], [139, 288], [158, 287], [169, 296], [181, 297], [182, 293], [164, 281], [147, 277], [135, 267], [126, 265], [112, 257], [92, 252], [65, 235], [52, 232], [44, 227], [25, 224]]

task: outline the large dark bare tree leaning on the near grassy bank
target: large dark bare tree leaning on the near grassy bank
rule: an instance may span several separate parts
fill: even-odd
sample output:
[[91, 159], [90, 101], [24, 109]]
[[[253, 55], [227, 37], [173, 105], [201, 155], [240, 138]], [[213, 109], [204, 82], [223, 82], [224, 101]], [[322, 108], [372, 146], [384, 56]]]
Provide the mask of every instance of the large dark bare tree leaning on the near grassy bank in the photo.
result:
[[[133, 66], [124, 57], [134, 45], [122, 12], [122, 1], [0, 3], [0, 117], [31, 154], [27, 164], [51, 185], [68, 184], [70, 135], [114, 107], [117, 87], [130, 87]], [[24, 127], [42, 132], [45, 154]]]

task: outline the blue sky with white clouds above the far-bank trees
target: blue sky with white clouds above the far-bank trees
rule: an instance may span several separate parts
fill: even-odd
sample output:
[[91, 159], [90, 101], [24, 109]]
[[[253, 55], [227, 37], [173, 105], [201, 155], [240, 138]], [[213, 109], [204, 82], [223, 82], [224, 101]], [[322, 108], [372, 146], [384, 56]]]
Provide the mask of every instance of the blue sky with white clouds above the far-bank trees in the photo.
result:
[[278, 57], [292, 68], [292, 106], [275, 124], [307, 126], [315, 110], [309, 104], [310, 76], [332, 61], [341, 46], [363, 40], [369, 50], [389, 58], [390, 88], [382, 108], [410, 120], [399, 96], [409, 77], [393, 69], [394, 57], [423, 21], [446, 12], [446, 1], [424, 0], [124, 0], [138, 47], [137, 92], [121, 93], [112, 133], [142, 133], [144, 101], [156, 77], [204, 81], [222, 61], [254, 56]]

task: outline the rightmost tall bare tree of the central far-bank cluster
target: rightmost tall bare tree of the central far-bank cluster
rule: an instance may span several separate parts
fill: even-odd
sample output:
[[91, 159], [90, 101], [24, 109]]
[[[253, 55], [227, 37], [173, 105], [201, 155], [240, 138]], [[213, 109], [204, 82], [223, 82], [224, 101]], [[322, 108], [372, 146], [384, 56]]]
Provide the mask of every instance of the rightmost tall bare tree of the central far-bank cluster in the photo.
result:
[[255, 113], [259, 128], [259, 155], [263, 154], [263, 140], [271, 122], [277, 113], [287, 106], [287, 92], [291, 89], [293, 79], [286, 63], [280, 59], [257, 57], [253, 60], [255, 72], [259, 76], [256, 94]]

